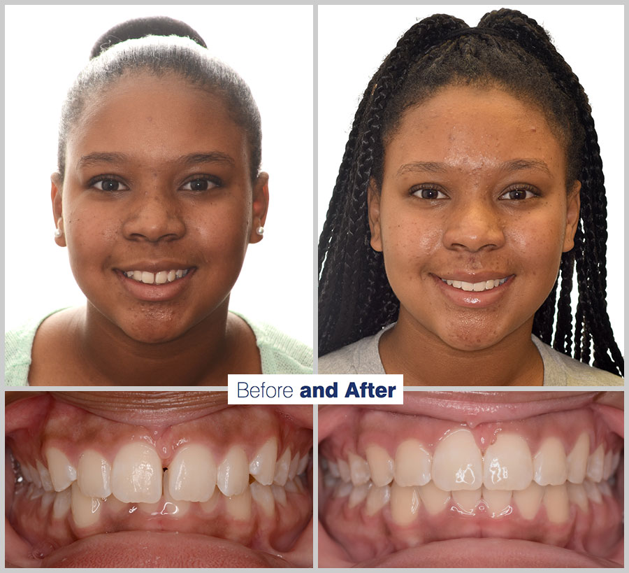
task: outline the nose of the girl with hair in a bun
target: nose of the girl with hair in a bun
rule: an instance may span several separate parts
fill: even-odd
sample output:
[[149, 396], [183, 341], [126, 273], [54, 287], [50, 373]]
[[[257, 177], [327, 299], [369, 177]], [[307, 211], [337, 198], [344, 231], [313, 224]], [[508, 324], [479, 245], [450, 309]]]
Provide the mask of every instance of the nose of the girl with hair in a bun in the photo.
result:
[[185, 232], [185, 221], [176, 197], [159, 190], [138, 193], [123, 224], [124, 236], [133, 241], [174, 241]]

